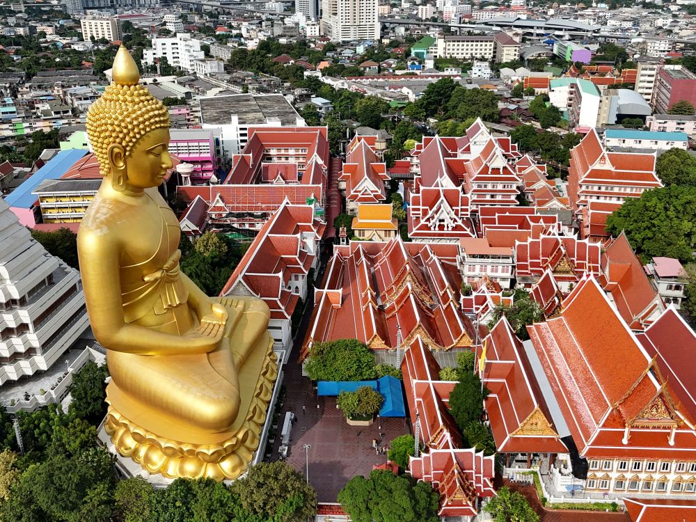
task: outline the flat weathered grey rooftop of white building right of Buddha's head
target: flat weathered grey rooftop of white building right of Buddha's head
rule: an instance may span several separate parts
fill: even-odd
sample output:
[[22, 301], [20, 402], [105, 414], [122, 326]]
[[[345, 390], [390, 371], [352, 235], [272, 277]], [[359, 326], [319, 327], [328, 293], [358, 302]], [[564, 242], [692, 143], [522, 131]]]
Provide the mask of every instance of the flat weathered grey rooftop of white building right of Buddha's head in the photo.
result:
[[200, 99], [200, 118], [205, 125], [230, 125], [232, 114], [243, 125], [267, 123], [269, 118], [281, 125], [295, 125], [299, 114], [280, 94], [235, 94]]

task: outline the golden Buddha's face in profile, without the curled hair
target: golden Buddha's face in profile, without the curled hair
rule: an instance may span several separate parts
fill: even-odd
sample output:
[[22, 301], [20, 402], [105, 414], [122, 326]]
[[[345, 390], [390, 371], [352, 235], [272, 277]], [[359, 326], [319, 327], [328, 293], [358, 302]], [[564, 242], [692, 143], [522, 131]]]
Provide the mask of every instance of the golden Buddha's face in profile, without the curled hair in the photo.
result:
[[131, 187], [148, 189], [161, 184], [173, 166], [168, 145], [169, 129], [155, 129], [137, 141], [125, 159], [127, 182]]

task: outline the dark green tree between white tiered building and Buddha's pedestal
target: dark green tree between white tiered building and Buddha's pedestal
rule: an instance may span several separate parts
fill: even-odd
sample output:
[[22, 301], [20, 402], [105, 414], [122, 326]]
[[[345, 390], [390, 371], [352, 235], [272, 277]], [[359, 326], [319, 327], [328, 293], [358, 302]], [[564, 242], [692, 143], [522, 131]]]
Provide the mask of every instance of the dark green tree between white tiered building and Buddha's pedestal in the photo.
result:
[[72, 376], [68, 392], [72, 397], [70, 413], [78, 418], [98, 425], [106, 415], [106, 377], [109, 368], [106, 364], [88, 361], [77, 374]]

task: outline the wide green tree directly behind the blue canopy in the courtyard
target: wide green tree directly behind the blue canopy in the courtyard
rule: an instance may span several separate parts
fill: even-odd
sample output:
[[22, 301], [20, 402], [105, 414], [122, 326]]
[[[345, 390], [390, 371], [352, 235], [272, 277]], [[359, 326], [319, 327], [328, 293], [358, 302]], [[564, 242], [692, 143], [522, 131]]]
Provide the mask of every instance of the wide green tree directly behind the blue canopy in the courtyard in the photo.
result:
[[364, 381], [374, 379], [374, 354], [356, 339], [315, 342], [305, 370], [313, 381]]

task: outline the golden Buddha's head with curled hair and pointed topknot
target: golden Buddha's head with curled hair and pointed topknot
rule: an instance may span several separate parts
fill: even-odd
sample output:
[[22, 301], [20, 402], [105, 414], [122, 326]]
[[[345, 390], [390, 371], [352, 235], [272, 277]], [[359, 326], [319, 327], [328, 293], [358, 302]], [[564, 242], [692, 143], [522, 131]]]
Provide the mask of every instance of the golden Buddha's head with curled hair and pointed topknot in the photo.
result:
[[157, 187], [172, 167], [169, 113], [138, 84], [138, 66], [123, 46], [113, 60], [112, 77], [87, 113], [87, 136], [100, 172], [116, 191]]

